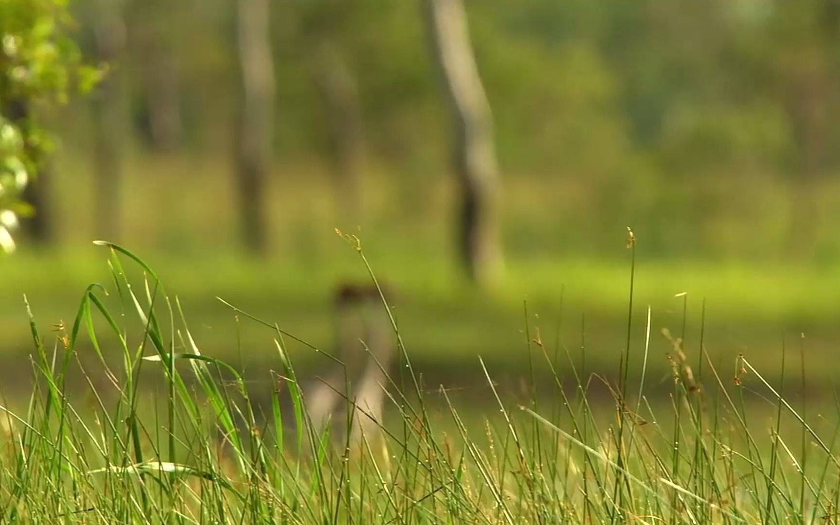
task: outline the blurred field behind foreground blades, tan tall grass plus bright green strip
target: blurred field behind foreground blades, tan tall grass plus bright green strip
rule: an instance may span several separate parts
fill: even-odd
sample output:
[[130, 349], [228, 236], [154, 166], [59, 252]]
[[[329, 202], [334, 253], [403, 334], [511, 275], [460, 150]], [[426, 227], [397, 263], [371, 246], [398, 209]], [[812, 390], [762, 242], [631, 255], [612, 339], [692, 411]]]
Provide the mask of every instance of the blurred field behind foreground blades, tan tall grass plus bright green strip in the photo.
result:
[[[87, 284], [102, 282], [113, 292], [102, 249], [91, 243], [102, 238], [102, 225], [92, 212], [97, 198], [92, 168], [74, 151], [60, 150], [55, 163], [50, 209], [55, 247], [33, 251], [24, 242], [20, 253], [0, 260], [2, 360], [18, 362], [31, 352], [24, 293], [48, 333], [51, 324], [76, 315]], [[274, 245], [266, 260], [242, 255], [229, 171], [228, 161], [218, 156], [131, 153], [125, 160], [122, 232], [108, 239], [150, 261], [167, 289], [181, 298], [187, 318], [196, 320], [192, 329], [197, 339], [221, 358], [232, 354], [237, 337], [250, 362], [273, 360], [274, 353], [258, 329], [237, 328], [217, 296], [321, 349], [332, 349], [335, 286], [367, 280], [354, 250], [335, 234], [336, 227], [360, 235], [377, 275], [396, 291], [391, 302], [397, 320], [412, 341], [418, 367], [427, 373], [473, 371], [480, 355], [488, 366], [521, 374], [526, 368], [526, 324], [539, 328], [552, 349], [558, 342], [575, 348], [584, 332], [584, 316], [593, 363], [604, 365], [604, 373], [615, 370], [612, 364], [627, 332], [628, 223], [639, 239], [633, 348], [642, 344], [650, 305], [652, 348], [659, 356], [651, 361], [656, 373], [666, 371], [661, 356], [669, 348], [659, 329], [682, 325], [682, 299], [674, 296], [683, 291], [689, 294], [690, 354], [699, 348], [704, 299], [706, 348], [728, 365], [741, 352], [772, 356], [765, 365], [775, 372], [783, 336], [796, 339], [800, 333], [806, 333], [806, 350], [815, 362], [825, 361], [840, 340], [835, 322], [840, 316], [840, 266], [778, 256], [774, 246], [784, 237], [784, 220], [763, 206], [780, 209], [784, 188], [772, 181], [761, 186], [761, 198], [750, 205], [754, 209], [739, 207], [740, 215], [709, 217], [701, 227], [679, 214], [666, 220], [601, 210], [573, 174], [506, 173], [507, 268], [495, 290], [477, 294], [465, 285], [454, 262], [452, 177], [445, 171], [402, 176], [371, 162], [359, 231], [340, 218], [323, 165], [310, 160], [279, 165], [269, 188]], [[821, 192], [826, 199], [836, 194], [829, 187]], [[631, 211], [634, 195], [626, 196]], [[304, 349], [291, 351], [304, 369], [318, 365]], [[808, 373], [822, 381], [833, 371], [831, 365], [814, 366]], [[638, 372], [634, 367], [632, 373]], [[2, 372], [0, 378], [9, 381]]]

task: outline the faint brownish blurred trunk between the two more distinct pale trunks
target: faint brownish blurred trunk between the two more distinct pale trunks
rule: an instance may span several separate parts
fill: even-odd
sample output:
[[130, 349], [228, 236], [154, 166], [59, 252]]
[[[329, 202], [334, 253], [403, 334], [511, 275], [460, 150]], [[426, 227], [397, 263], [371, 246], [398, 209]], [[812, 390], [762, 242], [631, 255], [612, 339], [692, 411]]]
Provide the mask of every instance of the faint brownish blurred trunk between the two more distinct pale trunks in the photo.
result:
[[318, 47], [316, 81], [327, 102], [329, 142], [341, 219], [358, 222], [364, 211], [361, 176], [365, 161], [359, 88], [344, 56], [327, 41]]

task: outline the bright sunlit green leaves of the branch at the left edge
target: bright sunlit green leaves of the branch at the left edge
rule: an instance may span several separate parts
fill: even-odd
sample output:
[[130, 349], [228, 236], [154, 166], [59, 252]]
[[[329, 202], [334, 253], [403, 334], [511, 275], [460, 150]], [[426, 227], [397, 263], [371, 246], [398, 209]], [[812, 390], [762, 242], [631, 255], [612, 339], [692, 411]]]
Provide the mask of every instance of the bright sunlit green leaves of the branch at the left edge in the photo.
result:
[[97, 71], [83, 66], [68, 34], [66, 0], [0, 1], [0, 249], [14, 249], [19, 215], [36, 213], [22, 201], [50, 147], [39, 106], [67, 102], [87, 91]]

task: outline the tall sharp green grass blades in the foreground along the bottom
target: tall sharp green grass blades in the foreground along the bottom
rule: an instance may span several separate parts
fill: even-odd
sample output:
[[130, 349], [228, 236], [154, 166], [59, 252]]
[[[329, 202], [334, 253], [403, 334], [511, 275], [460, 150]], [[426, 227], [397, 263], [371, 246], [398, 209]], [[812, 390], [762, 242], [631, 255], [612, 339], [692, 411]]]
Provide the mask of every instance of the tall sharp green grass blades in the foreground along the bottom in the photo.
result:
[[651, 311], [631, 306], [635, 264], [622, 286], [626, 340], [609, 369], [592, 358], [585, 322], [580, 343], [550, 344], [526, 315], [519, 395], [475, 363], [484, 414], [429, 387], [402, 318], [391, 318], [402, 365], [382, 385], [386, 419], [359, 437], [362, 407], [323, 431], [312, 424], [289, 351], [297, 335], [234, 304], [274, 349], [260, 402], [233, 358], [200, 349], [155, 271], [104, 245], [107, 297], [89, 286], [55, 344], [30, 313], [34, 386], [19, 407], [0, 407], [0, 522], [837, 522], [837, 417], [788, 396], [810, 387], [806, 343], [786, 342], [772, 379], [750, 355], [724, 371], [705, 350], [702, 308], [687, 349], [684, 296], [666, 334], [665, 394], [652, 390], [659, 359]]

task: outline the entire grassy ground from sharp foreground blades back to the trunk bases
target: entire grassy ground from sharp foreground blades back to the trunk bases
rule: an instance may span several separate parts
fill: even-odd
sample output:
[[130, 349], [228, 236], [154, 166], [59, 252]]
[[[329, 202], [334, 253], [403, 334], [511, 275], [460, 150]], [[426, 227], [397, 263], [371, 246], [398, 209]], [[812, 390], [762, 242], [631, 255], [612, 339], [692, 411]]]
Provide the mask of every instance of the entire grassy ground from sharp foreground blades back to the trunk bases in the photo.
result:
[[[0, 522], [837, 522], [832, 265], [664, 257], [643, 229], [633, 252], [624, 223], [570, 255], [514, 184], [477, 292], [445, 185], [408, 211], [377, 186], [358, 230], [317, 178], [275, 188], [255, 260], [218, 166], [159, 167], [127, 181], [142, 261], [92, 244], [85, 178], [58, 185], [57, 246], [0, 260]], [[384, 417], [324, 429], [333, 294], [371, 279], [336, 226], [394, 291], [401, 365]]]

